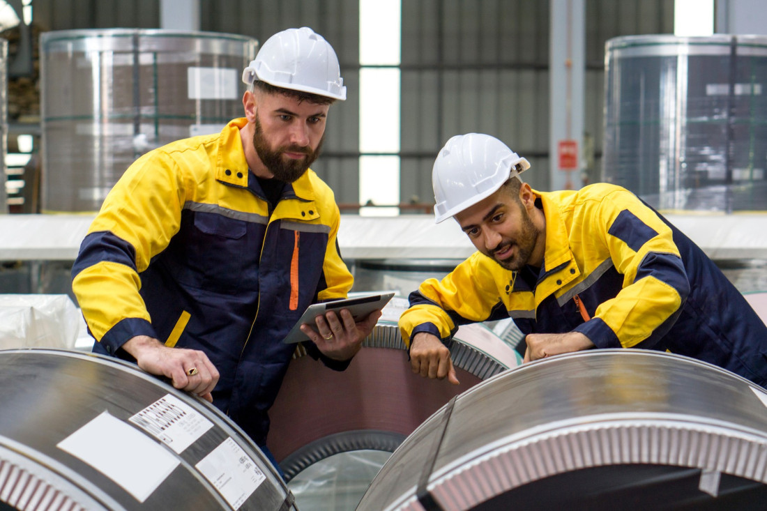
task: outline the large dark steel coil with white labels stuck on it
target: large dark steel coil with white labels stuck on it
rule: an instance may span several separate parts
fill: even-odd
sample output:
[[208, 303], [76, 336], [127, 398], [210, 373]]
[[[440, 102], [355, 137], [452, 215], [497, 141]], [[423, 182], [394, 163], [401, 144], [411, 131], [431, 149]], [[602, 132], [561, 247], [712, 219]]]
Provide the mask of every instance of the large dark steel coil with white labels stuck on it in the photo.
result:
[[135, 364], [0, 351], [0, 509], [296, 509], [215, 407]]

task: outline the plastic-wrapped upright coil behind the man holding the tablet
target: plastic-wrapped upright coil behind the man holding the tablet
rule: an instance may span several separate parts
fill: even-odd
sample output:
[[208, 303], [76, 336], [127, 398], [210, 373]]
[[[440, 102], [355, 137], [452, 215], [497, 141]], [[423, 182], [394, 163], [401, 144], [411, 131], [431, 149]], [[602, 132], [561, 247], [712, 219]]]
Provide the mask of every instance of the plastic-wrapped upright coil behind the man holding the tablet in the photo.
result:
[[239, 77], [256, 45], [127, 28], [41, 35], [42, 209], [95, 212], [143, 153], [242, 117]]

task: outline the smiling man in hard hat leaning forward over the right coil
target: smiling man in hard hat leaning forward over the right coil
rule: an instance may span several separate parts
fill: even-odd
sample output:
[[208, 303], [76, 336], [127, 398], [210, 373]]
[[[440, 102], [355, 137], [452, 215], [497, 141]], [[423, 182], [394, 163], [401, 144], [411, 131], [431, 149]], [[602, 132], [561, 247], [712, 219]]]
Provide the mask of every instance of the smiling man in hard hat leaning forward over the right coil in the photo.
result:
[[670, 351], [767, 384], [767, 327], [713, 261], [620, 186], [532, 190], [530, 164], [484, 134], [451, 138], [433, 166], [436, 222], [478, 252], [410, 295], [411, 369], [458, 384], [459, 325], [513, 318], [524, 360], [590, 348]]

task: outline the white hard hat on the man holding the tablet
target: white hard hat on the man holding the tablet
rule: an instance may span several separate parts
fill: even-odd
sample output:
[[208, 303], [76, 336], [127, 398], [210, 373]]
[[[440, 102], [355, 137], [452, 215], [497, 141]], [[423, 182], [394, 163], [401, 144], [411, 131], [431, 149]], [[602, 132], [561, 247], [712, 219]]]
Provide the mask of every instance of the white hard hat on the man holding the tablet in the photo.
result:
[[256, 79], [275, 87], [346, 99], [333, 47], [308, 27], [288, 28], [268, 38], [255, 61], [242, 71], [246, 84]]

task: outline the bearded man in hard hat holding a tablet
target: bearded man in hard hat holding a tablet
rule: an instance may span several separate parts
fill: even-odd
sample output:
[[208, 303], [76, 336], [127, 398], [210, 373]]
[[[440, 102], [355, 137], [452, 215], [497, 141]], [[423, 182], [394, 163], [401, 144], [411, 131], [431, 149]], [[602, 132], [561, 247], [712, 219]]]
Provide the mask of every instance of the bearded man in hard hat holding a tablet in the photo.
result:
[[[267, 412], [296, 348], [282, 340], [308, 305], [352, 285], [334, 194], [309, 168], [346, 87], [331, 45], [305, 27], [269, 38], [242, 79], [245, 117], [128, 168], [72, 288], [94, 352], [212, 401], [270, 456]], [[379, 316], [328, 312], [302, 327], [304, 348], [344, 370]]]

